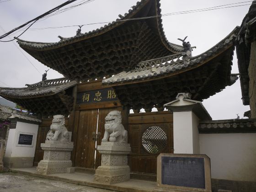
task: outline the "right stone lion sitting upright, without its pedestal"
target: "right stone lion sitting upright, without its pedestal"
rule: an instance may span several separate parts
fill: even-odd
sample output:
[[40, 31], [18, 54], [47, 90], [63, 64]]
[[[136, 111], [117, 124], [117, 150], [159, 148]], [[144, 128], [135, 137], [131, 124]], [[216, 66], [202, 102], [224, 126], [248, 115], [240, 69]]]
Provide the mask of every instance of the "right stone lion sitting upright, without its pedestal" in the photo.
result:
[[122, 125], [121, 112], [111, 111], [105, 117], [105, 133], [101, 141], [127, 143], [127, 131]]

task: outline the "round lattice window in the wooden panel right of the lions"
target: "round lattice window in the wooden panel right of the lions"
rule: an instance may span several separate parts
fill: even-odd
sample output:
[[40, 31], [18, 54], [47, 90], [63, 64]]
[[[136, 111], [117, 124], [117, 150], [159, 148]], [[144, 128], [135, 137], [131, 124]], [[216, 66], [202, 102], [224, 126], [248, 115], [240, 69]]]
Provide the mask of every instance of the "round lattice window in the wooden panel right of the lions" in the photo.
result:
[[159, 126], [147, 128], [142, 135], [142, 146], [150, 154], [160, 153], [167, 144], [167, 135]]

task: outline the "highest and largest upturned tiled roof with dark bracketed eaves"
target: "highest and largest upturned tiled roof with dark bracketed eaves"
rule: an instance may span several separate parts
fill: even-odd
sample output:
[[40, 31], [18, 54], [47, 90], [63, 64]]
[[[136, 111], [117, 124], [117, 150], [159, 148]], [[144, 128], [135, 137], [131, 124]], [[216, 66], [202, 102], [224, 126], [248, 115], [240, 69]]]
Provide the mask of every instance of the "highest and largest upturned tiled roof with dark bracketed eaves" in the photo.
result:
[[[141, 0], [104, 27], [56, 43], [17, 39], [21, 48], [69, 79], [87, 81], [128, 71], [140, 61], [181, 53], [163, 31], [159, 0]], [[139, 19], [153, 16], [152, 18]], [[157, 16], [157, 17], [154, 17]]]

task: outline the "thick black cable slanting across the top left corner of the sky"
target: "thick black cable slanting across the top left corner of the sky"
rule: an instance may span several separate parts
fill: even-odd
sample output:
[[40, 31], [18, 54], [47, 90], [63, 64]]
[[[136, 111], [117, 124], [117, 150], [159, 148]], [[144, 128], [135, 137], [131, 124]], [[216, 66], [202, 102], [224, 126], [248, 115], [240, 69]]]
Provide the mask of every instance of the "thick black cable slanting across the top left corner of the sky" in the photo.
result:
[[[57, 7], [54, 7], [54, 8], [51, 9], [50, 11], [47, 11], [47, 12], [43, 13], [42, 15], [37, 16], [36, 18], [34, 18], [34, 19], [30, 20], [30, 21], [27, 21], [27, 22], [24, 23], [23, 25], [21, 25], [21, 26], [19, 26], [19, 27], [16, 27], [15, 29], [12, 29], [10, 32], [7, 32], [7, 33], [1, 35], [1, 36], [0, 36], [0, 39], [6, 37], [6, 36], [8, 36], [8, 35], [10, 35], [11, 33], [17, 31], [17, 30], [20, 29], [21, 27], [27, 26], [29, 23], [31, 23], [31, 22], [34, 21], [34, 22], [29, 26], [29, 27], [31, 27], [37, 20], [39, 20], [39, 19], [42, 18], [43, 16], [47, 16], [47, 15], [49, 15], [50, 13], [53, 13], [54, 11], [59, 10], [61, 7], [65, 6], [65, 5], [68, 5], [68, 4], [70, 4], [70, 3], [74, 2], [74, 1], [76, 1], [76, 0], [68, 0], [68, 1], [64, 2], [63, 4], [61, 4], [61, 5], [58, 5]], [[27, 29], [28, 29], [29, 27], [27, 27]], [[27, 31], [27, 29], [26, 29], [25, 31]], [[20, 36], [21, 36], [21, 35], [20, 35]], [[14, 39], [13, 39], [13, 40], [14, 40]], [[12, 40], [12, 41], [13, 41], [13, 40]]]

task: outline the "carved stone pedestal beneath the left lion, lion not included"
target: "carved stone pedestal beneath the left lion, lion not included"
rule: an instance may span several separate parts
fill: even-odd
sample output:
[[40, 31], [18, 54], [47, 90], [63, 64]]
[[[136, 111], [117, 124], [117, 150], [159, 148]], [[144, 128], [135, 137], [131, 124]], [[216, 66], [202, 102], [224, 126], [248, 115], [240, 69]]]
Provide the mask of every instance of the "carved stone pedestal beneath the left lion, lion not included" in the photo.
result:
[[37, 165], [37, 172], [43, 175], [53, 173], [65, 173], [67, 168], [72, 166], [70, 160], [73, 142], [66, 141], [45, 141], [41, 144], [44, 150], [43, 160]]

